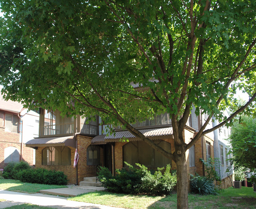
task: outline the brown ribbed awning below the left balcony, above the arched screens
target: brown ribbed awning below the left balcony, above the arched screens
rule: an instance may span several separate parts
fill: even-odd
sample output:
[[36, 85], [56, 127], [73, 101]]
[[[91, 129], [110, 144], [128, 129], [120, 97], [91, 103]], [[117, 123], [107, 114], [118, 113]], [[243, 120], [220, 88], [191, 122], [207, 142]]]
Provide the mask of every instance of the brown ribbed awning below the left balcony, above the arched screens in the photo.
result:
[[39, 146], [71, 146], [76, 148], [74, 136], [68, 137], [41, 137], [26, 142], [26, 146], [36, 148]]

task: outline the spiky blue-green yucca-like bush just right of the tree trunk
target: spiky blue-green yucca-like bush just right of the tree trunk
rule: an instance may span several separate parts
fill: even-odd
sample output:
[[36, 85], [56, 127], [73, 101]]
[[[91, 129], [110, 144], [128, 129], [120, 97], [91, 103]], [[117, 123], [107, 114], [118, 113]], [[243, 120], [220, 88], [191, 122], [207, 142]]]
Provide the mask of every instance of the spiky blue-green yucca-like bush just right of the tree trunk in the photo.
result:
[[213, 181], [204, 176], [193, 176], [190, 179], [190, 190], [192, 193], [201, 195], [218, 194], [215, 189]]

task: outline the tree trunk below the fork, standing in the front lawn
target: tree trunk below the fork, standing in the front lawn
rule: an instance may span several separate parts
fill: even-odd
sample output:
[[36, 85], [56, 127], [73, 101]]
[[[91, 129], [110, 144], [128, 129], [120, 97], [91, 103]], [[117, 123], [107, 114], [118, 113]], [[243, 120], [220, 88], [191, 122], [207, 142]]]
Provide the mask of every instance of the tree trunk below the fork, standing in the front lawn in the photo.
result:
[[175, 145], [177, 167], [177, 208], [188, 209], [187, 162], [185, 144]]

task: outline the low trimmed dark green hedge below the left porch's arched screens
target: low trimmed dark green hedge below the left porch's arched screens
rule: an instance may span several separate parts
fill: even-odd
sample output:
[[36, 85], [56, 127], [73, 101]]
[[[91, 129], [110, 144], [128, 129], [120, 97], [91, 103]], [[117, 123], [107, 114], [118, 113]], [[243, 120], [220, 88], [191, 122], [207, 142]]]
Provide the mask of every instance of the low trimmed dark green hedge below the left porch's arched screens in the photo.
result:
[[43, 168], [20, 170], [17, 175], [20, 181], [48, 185], [67, 185], [67, 176], [62, 171]]

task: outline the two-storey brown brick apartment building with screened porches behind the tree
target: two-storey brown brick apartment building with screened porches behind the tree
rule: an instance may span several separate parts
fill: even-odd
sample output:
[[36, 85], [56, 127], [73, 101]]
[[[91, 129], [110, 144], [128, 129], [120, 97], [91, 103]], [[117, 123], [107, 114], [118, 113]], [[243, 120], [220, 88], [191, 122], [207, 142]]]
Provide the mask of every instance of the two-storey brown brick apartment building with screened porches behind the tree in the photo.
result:
[[[99, 117], [89, 122], [86, 120], [87, 118], [79, 115], [67, 118], [61, 117], [58, 110], [40, 109], [39, 137], [26, 142], [27, 147], [35, 149], [35, 166], [63, 171], [68, 176], [69, 183], [73, 184], [79, 184], [84, 177], [96, 176], [97, 166], [108, 167], [112, 174], [115, 174], [115, 169], [126, 166], [124, 161], [131, 165], [138, 162], [150, 170], [167, 164], [176, 169], [173, 161], [158, 154], [130, 132], [115, 127], [115, 135], [107, 136], [106, 126], [99, 125]], [[186, 143], [197, 133], [200, 120], [204, 118], [197, 117], [194, 113], [189, 117], [184, 131]], [[212, 124], [209, 123], [210, 125]], [[134, 127], [163, 149], [174, 151], [173, 129], [167, 113], [156, 115], [152, 120], [137, 122]], [[129, 142], [121, 142], [122, 137], [126, 137]], [[214, 140], [217, 140], [214, 138], [214, 133], [203, 136], [187, 150], [188, 179], [189, 174], [205, 174], [204, 166], [199, 159], [214, 157], [213, 144]], [[76, 149], [80, 157], [74, 168]]]

